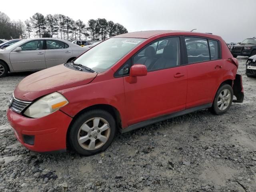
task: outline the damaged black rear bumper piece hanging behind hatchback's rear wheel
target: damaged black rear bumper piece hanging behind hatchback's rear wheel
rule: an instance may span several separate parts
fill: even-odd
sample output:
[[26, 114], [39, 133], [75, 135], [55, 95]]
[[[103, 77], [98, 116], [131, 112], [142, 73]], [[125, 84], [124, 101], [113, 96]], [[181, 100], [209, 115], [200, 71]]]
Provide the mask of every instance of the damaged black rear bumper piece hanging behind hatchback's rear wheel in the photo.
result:
[[236, 96], [236, 100], [233, 100], [234, 103], [242, 103], [244, 101], [244, 88], [242, 84], [242, 76], [236, 74], [236, 79], [233, 83], [233, 92]]

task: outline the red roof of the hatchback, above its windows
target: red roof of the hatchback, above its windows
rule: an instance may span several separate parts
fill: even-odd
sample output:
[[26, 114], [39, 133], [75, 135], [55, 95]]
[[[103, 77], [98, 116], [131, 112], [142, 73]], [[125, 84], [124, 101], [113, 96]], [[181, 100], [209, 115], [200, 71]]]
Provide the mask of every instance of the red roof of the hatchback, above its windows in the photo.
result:
[[176, 30], [153, 30], [153, 31], [138, 31], [138, 32], [130, 32], [125, 34], [120, 34], [117, 36], [114, 36], [114, 38], [144, 38], [148, 39], [152, 36], [160, 35], [160, 34], [173, 34], [173, 35], [193, 35], [193, 36], [204, 36], [208, 38], [217, 38], [219, 39], [219, 36], [207, 34], [207, 33], [198, 33], [198, 32], [188, 32], [188, 31], [176, 31]]

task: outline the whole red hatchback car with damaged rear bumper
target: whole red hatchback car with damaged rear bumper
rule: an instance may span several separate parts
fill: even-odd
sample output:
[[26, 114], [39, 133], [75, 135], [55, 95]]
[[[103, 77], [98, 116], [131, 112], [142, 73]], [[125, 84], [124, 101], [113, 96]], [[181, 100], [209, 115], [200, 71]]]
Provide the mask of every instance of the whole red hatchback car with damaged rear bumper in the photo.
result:
[[[14, 90], [7, 112], [30, 150], [105, 150], [127, 132], [244, 99], [238, 61], [220, 36], [144, 31], [115, 36], [76, 60], [36, 72]], [[233, 94], [236, 100], [233, 100]]]

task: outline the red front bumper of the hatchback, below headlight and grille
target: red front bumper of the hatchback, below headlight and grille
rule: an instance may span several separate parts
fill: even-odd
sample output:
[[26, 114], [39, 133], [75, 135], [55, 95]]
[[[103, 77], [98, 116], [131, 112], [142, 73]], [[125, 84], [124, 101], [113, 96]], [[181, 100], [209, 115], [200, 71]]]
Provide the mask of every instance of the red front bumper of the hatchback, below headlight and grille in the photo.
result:
[[36, 152], [66, 150], [66, 133], [72, 118], [60, 110], [42, 118], [27, 118], [9, 108], [7, 118], [26, 148]]

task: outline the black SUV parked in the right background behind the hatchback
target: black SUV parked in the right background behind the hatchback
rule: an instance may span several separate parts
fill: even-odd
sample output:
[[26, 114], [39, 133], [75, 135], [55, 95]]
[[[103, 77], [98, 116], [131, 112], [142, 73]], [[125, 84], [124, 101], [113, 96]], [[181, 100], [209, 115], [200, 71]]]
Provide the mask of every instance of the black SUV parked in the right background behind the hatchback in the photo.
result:
[[237, 56], [253, 56], [256, 55], [256, 37], [248, 38], [242, 43], [233, 46], [231, 50], [232, 55]]

